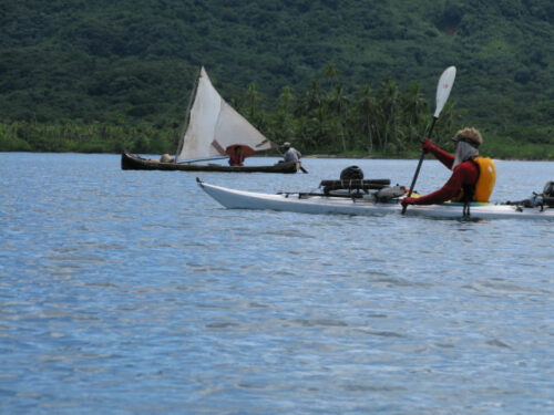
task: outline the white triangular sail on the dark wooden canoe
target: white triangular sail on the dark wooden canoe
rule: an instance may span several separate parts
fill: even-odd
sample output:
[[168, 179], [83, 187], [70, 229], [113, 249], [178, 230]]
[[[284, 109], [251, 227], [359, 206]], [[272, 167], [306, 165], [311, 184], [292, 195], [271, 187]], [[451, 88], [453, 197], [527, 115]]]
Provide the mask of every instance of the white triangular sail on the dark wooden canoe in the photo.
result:
[[225, 148], [234, 144], [247, 145], [255, 151], [276, 147], [222, 98], [204, 68], [182, 139], [184, 142], [181, 153], [176, 155], [177, 162], [225, 156]]

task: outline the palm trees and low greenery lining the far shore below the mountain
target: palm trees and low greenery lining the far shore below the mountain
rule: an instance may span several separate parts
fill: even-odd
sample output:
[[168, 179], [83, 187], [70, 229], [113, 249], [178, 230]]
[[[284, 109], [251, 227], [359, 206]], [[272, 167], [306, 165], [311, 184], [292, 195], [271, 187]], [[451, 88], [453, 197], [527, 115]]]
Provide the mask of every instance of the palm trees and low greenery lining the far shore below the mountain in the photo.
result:
[[[332, 62], [322, 76], [295, 94], [284, 86], [274, 108], [256, 83], [233, 96], [229, 104], [276, 143], [291, 142], [306, 154], [401, 156], [418, 151], [431, 121], [430, 104], [417, 81], [406, 87], [392, 79], [347, 91]], [[437, 136], [450, 136], [460, 117], [448, 103], [437, 125]], [[0, 151], [120, 153], [174, 153], [179, 126], [145, 123], [0, 124]]]

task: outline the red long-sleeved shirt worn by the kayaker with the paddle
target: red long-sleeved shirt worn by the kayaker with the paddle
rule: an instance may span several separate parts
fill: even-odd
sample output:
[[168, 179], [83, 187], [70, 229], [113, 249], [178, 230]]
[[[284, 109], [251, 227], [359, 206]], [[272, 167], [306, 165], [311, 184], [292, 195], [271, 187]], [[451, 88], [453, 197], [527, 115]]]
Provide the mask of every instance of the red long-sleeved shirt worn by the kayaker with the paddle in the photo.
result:
[[[443, 149], [437, 147], [432, 144], [429, 147], [429, 151], [449, 169], [452, 168], [454, 164], [454, 156], [450, 153], [444, 152]], [[460, 163], [454, 170], [452, 172], [452, 176], [447, 181], [442, 188], [437, 191], [433, 191], [427, 196], [417, 198], [413, 200], [414, 205], [437, 205], [442, 204], [447, 200], [452, 199], [458, 196], [460, 189], [464, 185], [475, 185], [479, 178], [479, 169], [471, 162], [466, 160]]]

